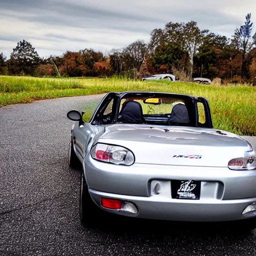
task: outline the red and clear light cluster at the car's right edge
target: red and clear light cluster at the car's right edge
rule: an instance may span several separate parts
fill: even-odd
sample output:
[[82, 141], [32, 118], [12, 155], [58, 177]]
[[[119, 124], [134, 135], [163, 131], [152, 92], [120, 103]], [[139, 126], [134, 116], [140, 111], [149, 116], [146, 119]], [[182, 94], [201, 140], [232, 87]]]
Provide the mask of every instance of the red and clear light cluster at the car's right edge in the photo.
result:
[[249, 149], [244, 152], [244, 157], [233, 158], [228, 162], [231, 170], [252, 170], [256, 169], [255, 152], [249, 145]]

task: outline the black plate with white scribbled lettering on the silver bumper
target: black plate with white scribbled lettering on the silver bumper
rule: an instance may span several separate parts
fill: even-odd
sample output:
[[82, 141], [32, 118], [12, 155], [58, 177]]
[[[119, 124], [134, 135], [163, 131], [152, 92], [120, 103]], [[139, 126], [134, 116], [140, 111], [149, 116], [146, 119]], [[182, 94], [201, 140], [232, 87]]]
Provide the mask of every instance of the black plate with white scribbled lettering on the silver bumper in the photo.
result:
[[200, 199], [201, 181], [171, 180], [171, 197], [176, 199]]

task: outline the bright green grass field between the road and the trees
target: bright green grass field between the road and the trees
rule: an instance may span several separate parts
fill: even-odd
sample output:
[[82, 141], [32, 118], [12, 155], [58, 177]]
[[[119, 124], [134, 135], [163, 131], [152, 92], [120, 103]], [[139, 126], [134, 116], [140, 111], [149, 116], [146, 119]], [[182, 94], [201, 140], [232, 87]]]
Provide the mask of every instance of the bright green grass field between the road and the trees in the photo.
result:
[[116, 78], [36, 78], [0, 76], [0, 106], [36, 99], [89, 95], [108, 91], [152, 90], [204, 96], [209, 100], [214, 128], [256, 135], [256, 87], [201, 85]]

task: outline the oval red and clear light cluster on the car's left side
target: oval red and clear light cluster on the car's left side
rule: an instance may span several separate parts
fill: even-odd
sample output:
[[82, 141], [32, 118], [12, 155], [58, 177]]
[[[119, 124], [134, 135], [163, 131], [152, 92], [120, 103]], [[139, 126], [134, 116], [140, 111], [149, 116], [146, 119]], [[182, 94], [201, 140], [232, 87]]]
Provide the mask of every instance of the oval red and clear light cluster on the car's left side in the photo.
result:
[[90, 151], [93, 159], [113, 164], [131, 165], [134, 163], [134, 154], [122, 146], [96, 143]]

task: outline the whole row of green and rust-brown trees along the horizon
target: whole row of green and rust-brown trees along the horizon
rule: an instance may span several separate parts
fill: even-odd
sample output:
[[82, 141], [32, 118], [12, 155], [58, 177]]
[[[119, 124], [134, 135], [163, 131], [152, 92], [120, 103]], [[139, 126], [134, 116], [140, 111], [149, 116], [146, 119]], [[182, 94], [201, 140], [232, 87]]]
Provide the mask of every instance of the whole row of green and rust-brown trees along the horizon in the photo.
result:
[[129, 78], [173, 73], [177, 79], [221, 78], [223, 82], [256, 84], [256, 33], [251, 14], [231, 38], [201, 30], [195, 21], [168, 22], [153, 29], [150, 40], [137, 40], [107, 55], [91, 48], [40, 58], [32, 45], [19, 41], [6, 60], [0, 53], [0, 74], [34, 76], [111, 76]]

